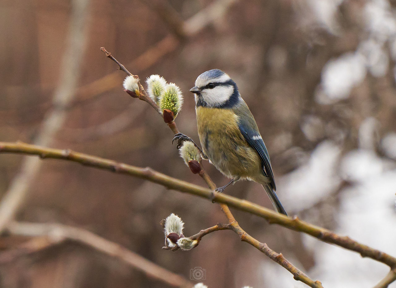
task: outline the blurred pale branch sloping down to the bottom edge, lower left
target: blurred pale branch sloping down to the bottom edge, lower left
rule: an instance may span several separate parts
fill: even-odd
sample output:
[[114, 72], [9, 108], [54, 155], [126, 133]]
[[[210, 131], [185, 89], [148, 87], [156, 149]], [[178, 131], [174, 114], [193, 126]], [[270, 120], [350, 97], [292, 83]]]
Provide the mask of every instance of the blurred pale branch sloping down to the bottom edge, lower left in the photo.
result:
[[62, 224], [27, 222], [11, 222], [7, 229], [13, 235], [29, 237], [46, 236], [48, 242], [53, 244], [58, 244], [64, 240], [76, 241], [123, 261], [124, 263], [127, 263], [135, 269], [145, 273], [147, 276], [161, 280], [170, 286], [192, 287], [193, 285], [180, 275], [156, 265], [120, 244], [111, 242], [85, 229]]

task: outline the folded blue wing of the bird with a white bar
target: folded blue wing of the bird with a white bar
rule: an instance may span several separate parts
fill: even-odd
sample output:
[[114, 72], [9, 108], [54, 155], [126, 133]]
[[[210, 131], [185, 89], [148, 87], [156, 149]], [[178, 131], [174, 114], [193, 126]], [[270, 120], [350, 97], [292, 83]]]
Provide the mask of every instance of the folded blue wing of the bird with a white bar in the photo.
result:
[[243, 122], [239, 124], [239, 130], [246, 139], [246, 142], [257, 152], [257, 154], [259, 154], [261, 163], [264, 166], [263, 173], [270, 178], [270, 185], [272, 186], [272, 189], [276, 191], [270, 156], [268, 155], [267, 147], [265, 147], [259, 131], [251, 127], [249, 123]]

